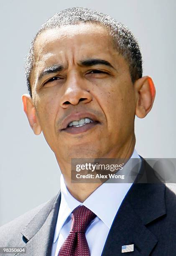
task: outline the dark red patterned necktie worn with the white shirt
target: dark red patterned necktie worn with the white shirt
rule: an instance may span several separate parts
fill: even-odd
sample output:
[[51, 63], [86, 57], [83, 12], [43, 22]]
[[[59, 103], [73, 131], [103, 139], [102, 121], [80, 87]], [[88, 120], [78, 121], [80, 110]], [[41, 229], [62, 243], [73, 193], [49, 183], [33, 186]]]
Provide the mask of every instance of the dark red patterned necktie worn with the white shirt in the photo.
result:
[[96, 215], [84, 205], [72, 213], [70, 233], [60, 248], [58, 256], [90, 256], [85, 232]]

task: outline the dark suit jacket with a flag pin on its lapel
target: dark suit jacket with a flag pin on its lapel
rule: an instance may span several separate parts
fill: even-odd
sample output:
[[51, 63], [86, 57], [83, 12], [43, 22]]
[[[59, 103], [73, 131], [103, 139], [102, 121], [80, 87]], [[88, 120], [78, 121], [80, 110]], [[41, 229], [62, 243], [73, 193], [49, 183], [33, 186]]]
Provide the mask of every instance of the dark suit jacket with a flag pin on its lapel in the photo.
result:
[[[148, 179], [156, 178], [144, 159], [141, 172], [146, 172]], [[117, 211], [102, 256], [176, 256], [176, 186], [138, 180]], [[2, 255], [50, 256], [60, 202], [59, 192], [45, 204], [3, 225], [0, 247], [25, 247], [27, 253]], [[134, 244], [134, 251], [122, 254], [121, 247], [129, 244]]]

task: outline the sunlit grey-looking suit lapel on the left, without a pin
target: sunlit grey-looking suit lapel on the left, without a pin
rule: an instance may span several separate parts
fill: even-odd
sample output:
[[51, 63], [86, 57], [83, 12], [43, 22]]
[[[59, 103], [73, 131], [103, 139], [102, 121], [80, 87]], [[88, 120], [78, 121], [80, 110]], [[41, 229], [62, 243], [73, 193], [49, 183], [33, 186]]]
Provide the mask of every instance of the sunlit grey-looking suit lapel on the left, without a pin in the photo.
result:
[[[26, 228], [21, 231], [23, 241], [27, 242], [26, 256], [51, 255], [54, 231], [61, 202], [61, 192], [34, 216]], [[15, 254], [15, 256], [21, 254]]]

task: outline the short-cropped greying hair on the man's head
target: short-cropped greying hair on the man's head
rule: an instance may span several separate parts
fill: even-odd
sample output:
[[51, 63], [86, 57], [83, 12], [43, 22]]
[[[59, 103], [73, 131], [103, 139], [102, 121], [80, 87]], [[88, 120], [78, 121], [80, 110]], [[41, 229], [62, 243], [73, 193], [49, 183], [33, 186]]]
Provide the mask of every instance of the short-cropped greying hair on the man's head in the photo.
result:
[[142, 77], [142, 56], [138, 41], [133, 36], [133, 33], [125, 25], [110, 17], [110, 15], [89, 8], [73, 7], [62, 10], [49, 18], [43, 23], [31, 42], [25, 65], [26, 84], [31, 97], [30, 75], [34, 65], [34, 44], [38, 35], [48, 29], [88, 22], [99, 24], [110, 32], [117, 51], [128, 62], [132, 82], [134, 83], [136, 79]]

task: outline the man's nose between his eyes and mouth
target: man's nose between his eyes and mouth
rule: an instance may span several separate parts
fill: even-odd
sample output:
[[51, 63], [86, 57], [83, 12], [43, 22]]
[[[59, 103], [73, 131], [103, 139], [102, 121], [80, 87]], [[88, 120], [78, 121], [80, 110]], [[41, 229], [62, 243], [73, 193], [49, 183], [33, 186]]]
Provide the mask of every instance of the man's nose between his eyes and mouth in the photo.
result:
[[92, 100], [92, 95], [88, 89], [86, 79], [80, 74], [72, 73], [67, 75], [64, 84], [64, 94], [61, 97], [60, 105], [62, 108], [68, 108], [71, 105], [77, 105], [79, 102], [88, 103]]

